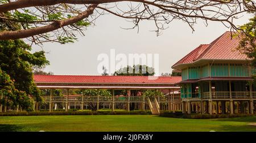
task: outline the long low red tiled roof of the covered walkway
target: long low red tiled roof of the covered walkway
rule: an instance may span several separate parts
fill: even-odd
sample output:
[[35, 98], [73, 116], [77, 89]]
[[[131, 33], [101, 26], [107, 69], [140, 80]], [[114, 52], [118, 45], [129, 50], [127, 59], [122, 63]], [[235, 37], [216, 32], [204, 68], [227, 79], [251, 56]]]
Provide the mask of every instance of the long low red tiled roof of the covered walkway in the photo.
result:
[[175, 84], [181, 76], [76, 76], [34, 75], [35, 83], [125, 83], [125, 84]]

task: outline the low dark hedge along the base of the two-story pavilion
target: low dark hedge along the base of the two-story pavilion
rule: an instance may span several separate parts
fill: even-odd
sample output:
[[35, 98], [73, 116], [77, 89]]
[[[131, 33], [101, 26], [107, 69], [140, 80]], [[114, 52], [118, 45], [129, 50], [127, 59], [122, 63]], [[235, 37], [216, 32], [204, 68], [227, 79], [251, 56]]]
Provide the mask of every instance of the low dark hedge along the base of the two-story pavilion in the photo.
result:
[[170, 118], [185, 118], [185, 119], [214, 119], [214, 118], [237, 118], [243, 116], [254, 116], [254, 114], [182, 114], [180, 112], [163, 112], [160, 114], [163, 117]]

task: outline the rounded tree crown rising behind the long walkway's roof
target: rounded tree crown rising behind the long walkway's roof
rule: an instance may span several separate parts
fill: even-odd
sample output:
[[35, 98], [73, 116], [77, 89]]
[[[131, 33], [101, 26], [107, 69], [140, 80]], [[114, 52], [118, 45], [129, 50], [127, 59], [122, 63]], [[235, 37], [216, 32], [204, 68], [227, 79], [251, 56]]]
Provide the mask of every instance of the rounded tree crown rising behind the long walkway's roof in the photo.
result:
[[154, 68], [148, 67], [146, 65], [133, 65], [127, 66], [124, 68], [119, 69], [118, 71], [115, 71], [114, 76], [154, 76], [155, 71]]

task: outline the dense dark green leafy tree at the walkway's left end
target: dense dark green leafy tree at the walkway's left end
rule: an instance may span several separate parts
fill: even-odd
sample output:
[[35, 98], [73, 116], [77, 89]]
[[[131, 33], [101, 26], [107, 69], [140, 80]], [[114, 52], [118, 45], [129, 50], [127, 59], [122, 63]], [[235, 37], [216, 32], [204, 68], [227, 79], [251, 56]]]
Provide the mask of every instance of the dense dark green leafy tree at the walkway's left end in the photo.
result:
[[34, 83], [32, 67], [49, 64], [44, 51], [31, 54], [30, 50], [31, 46], [22, 40], [0, 41], [0, 68], [3, 78], [0, 83], [3, 86], [1, 102], [19, 105], [26, 110], [31, 110], [30, 98], [41, 100], [40, 90]]

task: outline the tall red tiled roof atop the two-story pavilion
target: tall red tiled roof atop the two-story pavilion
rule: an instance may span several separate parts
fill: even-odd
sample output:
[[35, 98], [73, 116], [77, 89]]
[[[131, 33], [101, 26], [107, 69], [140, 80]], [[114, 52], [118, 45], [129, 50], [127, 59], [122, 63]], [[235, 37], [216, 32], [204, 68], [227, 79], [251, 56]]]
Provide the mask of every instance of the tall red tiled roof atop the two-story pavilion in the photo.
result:
[[225, 32], [210, 44], [204, 44], [191, 51], [184, 58], [175, 63], [172, 68], [179, 64], [194, 63], [201, 59], [210, 60], [248, 60], [247, 55], [236, 50], [240, 37], [231, 38], [230, 32]]

